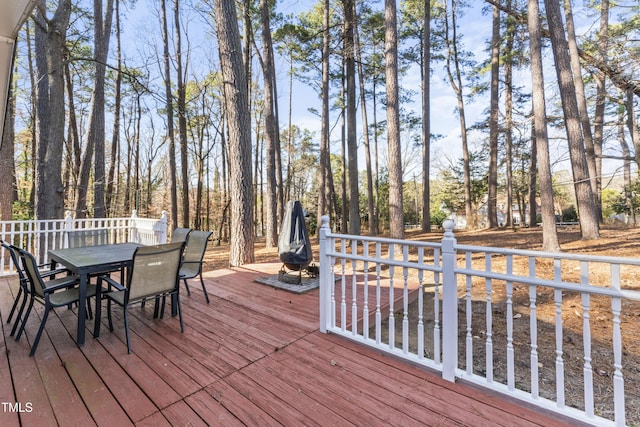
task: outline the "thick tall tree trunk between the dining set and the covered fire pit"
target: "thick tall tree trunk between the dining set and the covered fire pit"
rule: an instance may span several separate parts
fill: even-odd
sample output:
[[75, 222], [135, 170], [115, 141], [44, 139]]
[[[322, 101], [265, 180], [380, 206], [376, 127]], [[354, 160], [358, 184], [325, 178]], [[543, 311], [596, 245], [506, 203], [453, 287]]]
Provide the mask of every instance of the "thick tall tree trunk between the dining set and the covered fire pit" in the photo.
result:
[[252, 263], [254, 255], [253, 188], [251, 178], [251, 119], [247, 95], [247, 76], [242, 51], [235, 3], [214, 0], [220, 66], [228, 115], [231, 247], [232, 266]]

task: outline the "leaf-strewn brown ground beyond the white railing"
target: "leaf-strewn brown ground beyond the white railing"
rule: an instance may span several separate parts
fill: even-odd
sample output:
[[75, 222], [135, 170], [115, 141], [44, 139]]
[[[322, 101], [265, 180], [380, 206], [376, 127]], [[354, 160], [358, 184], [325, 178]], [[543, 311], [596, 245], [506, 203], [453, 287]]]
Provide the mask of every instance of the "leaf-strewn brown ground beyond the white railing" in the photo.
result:
[[[559, 229], [559, 239], [563, 252], [573, 252], [592, 255], [607, 255], [617, 257], [637, 258], [640, 257], [640, 228], [614, 228], [604, 227], [601, 230], [601, 238], [598, 240], [582, 240], [577, 227]], [[540, 229], [504, 229], [492, 231], [456, 232], [458, 243], [474, 246], [493, 246], [502, 248], [518, 248], [529, 250], [540, 250], [542, 247], [542, 232]], [[419, 232], [408, 232], [407, 239], [440, 241], [441, 231], [434, 231], [428, 234]], [[313, 241], [313, 240], [312, 240]], [[319, 250], [314, 247], [314, 253]], [[277, 250], [266, 249], [263, 240], [257, 240], [255, 245], [256, 262], [277, 262]], [[207, 269], [222, 268], [228, 266], [229, 248], [228, 245], [211, 245], [207, 251]], [[526, 265], [516, 264], [514, 268], [527, 268]], [[563, 276], [577, 275], [578, 269], [575, 266], [563, 268], [575, 271], [563, 271]], [[518, 273], [518, 271], [514, 271]], [[524, 272], [522, 272], [524, 273]], [[607, 274], [605, 272], [604, 274]], [[640, 282], [640, 281], [639, 281]], [[635, 290], [640, 290], [640, 283], [631, 283]], [[514, 337], [526, 337], [523, 342], [513, 342], [514, 366], [516, 371], [516, 387], [530, 389], [530, 366], [531, 366], [531, 346], [529, 341], [529, 294], [528, 287], [515, 286], [513, 292], [512, 316], [514, 318]], [[504, 287], [496, 286], [492, 295], [492, 324], [491, 342], [493, 344], [493, 365], [494, 381], [506, 383], [506, 303]], [[485, 357], [487, 352], [487, 331], [486, 331], [486, 294], [473, 295], [472, 311], [472, 340], [474, 353], [473, 371], [477, 374], [486, 374]], [[414, 303], [414, 305], [417, 302]], [[430, 313], [431, 317], [424, 319], [426, 333], [425, 352], [431, 357], [429, 351], [433, 348], [433, 298], [425, 298], [424, 313]], [[465, 368], [464, 341], [466, 337], [466, 307], [459, 306], [460, 323], [460, 343], [461, 349], [460, 364]], [[409, 310], [417, 313], [417, 310]], [[541, 292], [537, 296], [537, 319], [538, 319], [538, 369], [539, 388], [542, 397], [555, 399], [556, 395], [556, 332], [555, 332], [555, 304], [553, 293]], [[402, 313], [396, 316], [402, 316]], [[398, 317], [396, 317], [397, 319]], [[402, 318], [402, 317], [400, 317]], [[609, 299], [592, 298], [591, 309], [591, 337], [592, 337], [592, 370], [594, 378], [595, 411], [597, 415], [605, 418], [612, 418], [613, 414], [613, 373], [612, 366], [612, 315], [611, 302]], [[564, 363], [565, 401], [567, 406], [582, 408], [584, 406], [583, 368], [583, 317], [582, 302], [579, 295], [568, 295], [563, 299], [563, 333], [562, 333], [562, 358]], [[415, 337], [417, 319], [410, 317], [410, 342], [416, 343]], [[398, 331], [395, 336], [401, 339], [400, 328], [402, 322], [396, 322]], [[627, 424], [640, 426], [640, 302], [627, 303], [623, 307], [621, 328], [623, 331], [623, 376], [626, 395], [626, 417]], [[385, 329], [383, 325], [383, 330]], [[429, 332], [430, 331], [430, 332]], [[412, 344], [413, 345], [413, 344]], [[415, 347], [415, 346], [414, 346]], [[415, 351], [415, 348], [414, 348]]]

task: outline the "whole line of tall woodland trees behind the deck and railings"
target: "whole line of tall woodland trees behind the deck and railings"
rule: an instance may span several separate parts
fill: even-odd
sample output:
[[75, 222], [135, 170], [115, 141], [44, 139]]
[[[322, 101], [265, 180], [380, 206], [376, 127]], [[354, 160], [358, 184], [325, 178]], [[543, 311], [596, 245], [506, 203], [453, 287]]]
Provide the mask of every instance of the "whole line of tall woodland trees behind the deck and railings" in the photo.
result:
[[[450, 214], [513, 226], [514, 210], [554, 224], [558, 146], [584, 238], [599, 237], [607, 206], [637, 209], [637, 2], [583, 2], [576, 17], [570, 0], [319, 0], [292, 14], [270, 0], [161, 0], [145, 3], [138, 39], [124, 24], [140, 3], [36, 5], [0, 147], [1, 219], [168, 208], [172, 226], [228, 240], [232, 265], [253, 261], [256, 236], [277, 244], [291, 199], [350, 234], [403, 238], [406, 222], [429, 232]], [[491, 29], [483, 51], [465, 46], [466, 14]], [[432, 105], [442, 82], [453, 111]], [[294, 85], [317, 94], [318, 133], [294, 123]], [[478, 99], [484, 117], [469, 123]], [[443, 114], [460, 158], [433, 157], [457, 151], [432, 132]], [[606, 159], [624, 178], [610, 204]], [[559, 250], [555, 227], [543, 236]]]

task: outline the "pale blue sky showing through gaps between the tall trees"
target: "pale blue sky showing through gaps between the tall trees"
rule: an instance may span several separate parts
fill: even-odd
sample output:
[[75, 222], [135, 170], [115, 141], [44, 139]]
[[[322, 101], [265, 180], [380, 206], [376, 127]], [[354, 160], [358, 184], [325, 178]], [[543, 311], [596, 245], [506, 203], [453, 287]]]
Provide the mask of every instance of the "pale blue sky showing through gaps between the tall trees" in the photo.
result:
[[[183, 0], [185, 2], [185, 0]], [[299, 1], [287, 1], [279, 0], [277, 3], [278, 10], [283, 14], [297, 14], [301, 11], [309, 10], [315, 1], [299, 0]], [[171, 2], [169, 2], [171, 4]], [[382, 2], [378, 2], [379, 7], [382, 7]], [[472, 51], [476, 55], [476, 61], [483, 61], [487, 53], [485, 52], [486, 41], [491, 33], [491, 17], [488, 15], [482, 15], [481, 9], [485, 6], [484, 2], [473, 2], [471, 8], [460, 19], [459, 34], [463, 36], [464, 48]], [[157, 19], [157, 1], [151, 0], [138, 0], [135, 3], [133, 9], [126, 12], [127, 20], [125, 24], [125, 40], [127, 44], [127, 56], [129, 60], [136, 61], [140, 57], [153, 57], [154, 49], [152, 39], [158, 40], [160, 37], [160, 25]], [[579, 27], [589, 26], [592, 23], [584, 19], [584, 16], [580, 14], [579, 6], [575, 5], [575, 16]], [[171, 19], [171, 17], [170, 17]], [[208, 34], [207, 25], [204, 24], [205, 18], [196, 12], [187, 13], [185, 19], [183, 19], [183, 26], [187, 27], [188, 47], [191, 51], [190, 56], [190, 71], [192, 73], [201, 73], [211, 69], [211, 63], [217, 61], [216, 59], [216, 47], [215, 41], [211, 39]], [[183, 46], [186, 48], [186, 39], [183, 39]], [[153, 68], [153, 67], [152, 67]], [[279, 106], [281, 127], [286, 126], [286, 118], [288, 116], [288, 100], [289, 100], [289, 82], [288, 82], [288, 62], [284, 58], [277, 58], [276, 68], [279, 78]], [[160, 67], [156, 65], [156, 74]], [[400, 84], [403, 87], [413, 89], [417, 92], [415, 101], [407, 105], [406, 107], [414, 109], [419, 113], [420, 111], [420, 74], [418, 71], [412, 71], [403, 76], [400, 80]], [[432, 145], [432, 159], [434, 161], [434, 171], [438, 167], [446, 166], [450, 162], [456, 161], [461, 157], [461, 140], [460, 140], [460, 126], [456, 108], [456, 99], [453, 90], [449, 86], [449, 83], [444, 79], [445, 74], [443, 70], [443, 64], [435, 64], [433, 67], [432, 86], [431, 86], [431, 105], [432, 105], [432, 133], [442, 135], [443, 138]], [[548, 68], [545, 74], [545, 80], [547, 86], [550, 89], [550, 93], [554, 93], [555, 84], [555, 72], [553, 68]], [[529, 74], [524, 71], [517, 77], [518, 84], [528, 87], [530, 85]], [[557, 90], [556, 90], [557, 92]], [[548, 102], [553, 102], [553, 98], [550, 97]], [[292, 121], [302, 129], [309, 129], [319, 134], [320, 120], [317, 116], [310, 113], [310, 108], [320, 109], [320, 99], [316, 92], [310, 87], [300, 84], [297, 81], [293, 83], [293, 108], [292, 108]], [[483, 120], [485, 116], [485, 110], [489, 105], [488, 98], [478, 97], [474, 101], [467, 102], [465, 105], [465, 112], [467, 118], [467, 125], [472, 126], [474, 123]], [[359, 107], [359, 105], [358, 105]], [[336, 114], [337, 113], [332, 113]], [[358, 113], [358, 120], [360, 118]], [[384, 111], [378, 112], [379, 118], [384, 118]], [[337, 117], [332, 117], [332, 122], [337, 120]], [[332, 141], [335, 148], [335, 152], [338, 152], [338, 142], [340, 138], [339, 129], [334, 130], [332, 134]], [[471, 134], [470, 142], [473, 144], [479, 139], [478, 135]], [[555, 145], [554, 145], [555, 144]], [[558, 142], [552, 143], [552, 156], [556, 160], [562, 160], [566, 158], [566, 143]], [[362, 151], [362, 150], [361, 150]], [[566, 163], [566, 162], [565, 162]], [[360, 167], [364, 167], [364, 161], [359, 162]], [[414, 166], [414, 168], [417, 166]], [[558, 166], [562, 168], [562, 164]], [[420, 171], [417, 170], [417, 173]], [[411, 171], [408, 171], [411, 175]]]

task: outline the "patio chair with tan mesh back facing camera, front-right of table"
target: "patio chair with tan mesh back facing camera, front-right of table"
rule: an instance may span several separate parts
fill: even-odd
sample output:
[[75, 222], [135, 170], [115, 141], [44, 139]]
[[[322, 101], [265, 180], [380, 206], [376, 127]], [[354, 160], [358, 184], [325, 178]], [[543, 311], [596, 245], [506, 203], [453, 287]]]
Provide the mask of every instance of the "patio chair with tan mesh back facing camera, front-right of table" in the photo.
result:
[[[182, 309], [180, 308], [180, 262], [184, 242], [167, 243], [156, 246], [142, 246], [133, 255], [133, 265], [129, 270], [126, 284], [116, 282], [109, 276], [98, 277], [98, 286], [106, 281], [116, 291], [107, 292], [107, 316], [109, 330], [113, 332], [111, 318], [111, 303], [120, 305], [124, 311], [124, 329], [127, 337], [127, 353], [131, 353], [131, 339], [129, 337], [128, 308], [131, 305], [143, 303], [147, 299], [172, 296], [174, 309], [180, 316], [180, 331], [184, 332], [182, 323]], [[158, 306], [154, 317], [158, 317]]]

